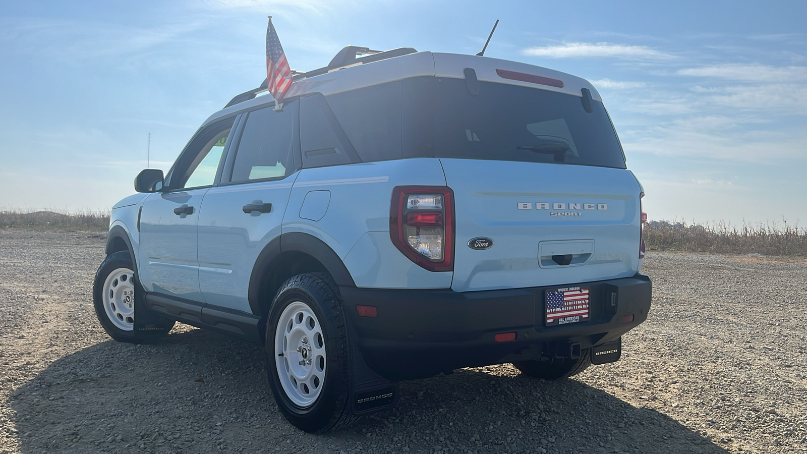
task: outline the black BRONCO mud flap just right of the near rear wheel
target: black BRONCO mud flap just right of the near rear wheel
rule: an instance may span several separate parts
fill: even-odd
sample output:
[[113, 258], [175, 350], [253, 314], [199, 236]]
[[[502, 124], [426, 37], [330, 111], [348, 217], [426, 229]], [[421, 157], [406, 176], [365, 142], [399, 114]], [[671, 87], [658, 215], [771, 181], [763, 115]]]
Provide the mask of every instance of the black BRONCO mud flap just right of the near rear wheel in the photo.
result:
[[367, 367], [362, 352], [358, 351], [352, 340], [356, 338], [356, 333], [351, 329], [350, 334], [350, 413], [366, 416], [390, 410], [398, 403], [398, 383], [379, 376]]

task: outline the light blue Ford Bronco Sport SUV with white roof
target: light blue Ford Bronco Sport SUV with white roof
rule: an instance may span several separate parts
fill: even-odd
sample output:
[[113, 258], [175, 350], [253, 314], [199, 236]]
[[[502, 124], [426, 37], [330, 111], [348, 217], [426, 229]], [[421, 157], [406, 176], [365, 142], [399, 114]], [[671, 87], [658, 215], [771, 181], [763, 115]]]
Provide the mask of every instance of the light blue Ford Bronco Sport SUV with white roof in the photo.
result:
[[348, 47], [282, 105], [265, 94], [112, 209], [94, 284], [112, 338], [182, 322], [263, 345], [282, 413], [328, 431], [394, 406], [398, 380], [616, 361], [646, 319], [642, 187], [583, 79]]

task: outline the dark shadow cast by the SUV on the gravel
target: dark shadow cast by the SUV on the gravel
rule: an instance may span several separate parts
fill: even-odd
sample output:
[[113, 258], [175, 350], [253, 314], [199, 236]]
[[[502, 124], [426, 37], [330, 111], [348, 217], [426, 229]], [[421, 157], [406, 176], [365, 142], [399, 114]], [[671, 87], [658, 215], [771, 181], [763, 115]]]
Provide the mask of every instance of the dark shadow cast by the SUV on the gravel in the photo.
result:
[[665, 414], [576, 380], [463, 369], [403, 382], [399, 405], [309, 435], [274, 405], [260, 347], [203, 330], [107, 341], [16, 389], [21, 452], [725, 452]]

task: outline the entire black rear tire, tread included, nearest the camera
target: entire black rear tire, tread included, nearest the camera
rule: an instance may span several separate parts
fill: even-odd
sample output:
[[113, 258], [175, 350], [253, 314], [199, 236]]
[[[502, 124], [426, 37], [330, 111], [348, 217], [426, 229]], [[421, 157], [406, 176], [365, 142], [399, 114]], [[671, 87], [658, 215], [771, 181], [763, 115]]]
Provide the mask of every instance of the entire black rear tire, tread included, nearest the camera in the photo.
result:
[[[278, 322], [287, 307], [304, 303], [316, 316], [324, 338], [324, 380], [310, 405], [300, 406], [283, 389], [278, 376], [275, 338]], [[296, 317], [296, 315], [295, 315]], [[282, 347], [279, 347], [281, 348]], [[342, 313], [339, 288], [327, 273], [295, 275], [282, 284], [274, 297], [266, 323], [266, 369], [278, 409], [289, 422], [307, 432], [325, 432], [353, 423], [348, 395], [350, 372], [348, 363], [348, 330]], [[305, 358], [305, 356], [300, 356]], [[291, 358], [286, 358], [286, 361]], [[297, 360], [295, 356], [294, 359]], [[281, 366], [283, 367], [283, 366]], [[288, 368], [289, 366], [285, 366]], [[284, 373], [287, 373], [284, 371]]]

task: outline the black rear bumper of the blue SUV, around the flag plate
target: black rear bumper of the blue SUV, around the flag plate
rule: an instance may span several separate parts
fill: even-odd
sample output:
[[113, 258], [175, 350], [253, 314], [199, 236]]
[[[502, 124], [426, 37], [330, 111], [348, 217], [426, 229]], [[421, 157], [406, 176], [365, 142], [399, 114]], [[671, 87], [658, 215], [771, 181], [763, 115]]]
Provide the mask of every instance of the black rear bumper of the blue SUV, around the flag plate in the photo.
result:
[[[647, 275], [578, 284], [590, 288], [591, 316], [561, 326], [545, 326], [547, 287], [481, 292], [340, 290], [367, 364], [382, 376], [405, 380], [538, 359], [550, 350], [561, 355], [558, 346], [608, 343], [646, 320], [652, 294]], [[356, 305], [375, 306], [378, 315], [360, 317]], [[516, 333], [515, 340], [495, 342], [495, 334], [509, 332]]]

